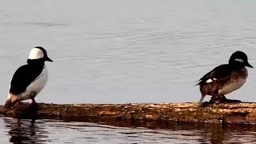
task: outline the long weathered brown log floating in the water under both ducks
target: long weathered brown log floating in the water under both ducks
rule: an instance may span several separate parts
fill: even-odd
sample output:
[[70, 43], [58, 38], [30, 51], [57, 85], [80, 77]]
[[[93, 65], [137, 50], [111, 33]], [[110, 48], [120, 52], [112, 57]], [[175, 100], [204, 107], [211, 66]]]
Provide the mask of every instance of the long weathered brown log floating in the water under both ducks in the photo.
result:
[[198, 107], [197, 103], [46, 104], [19, 103], [0, 114], [12, 118], [57, 119], [65, 122], [193, 122], [256, 124], [256, 103], [240, 102]]

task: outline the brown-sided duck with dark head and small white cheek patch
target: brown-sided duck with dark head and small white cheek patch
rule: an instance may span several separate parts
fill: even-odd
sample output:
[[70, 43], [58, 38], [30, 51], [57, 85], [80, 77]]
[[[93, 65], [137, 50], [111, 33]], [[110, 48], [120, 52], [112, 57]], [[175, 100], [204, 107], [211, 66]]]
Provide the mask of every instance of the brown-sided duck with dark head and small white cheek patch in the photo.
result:
[[246, 82], [248, 76], [245, 66], [253, 68], [246, 54], [236, 51], [231, 55], [228, 64], [217, 66], [205, 74], [197, 84], [202, 94], [198, 105], [201, 106], [206, 95], [211, 95], [212, 98], [225, 98], [225, 94], [238, 90]]

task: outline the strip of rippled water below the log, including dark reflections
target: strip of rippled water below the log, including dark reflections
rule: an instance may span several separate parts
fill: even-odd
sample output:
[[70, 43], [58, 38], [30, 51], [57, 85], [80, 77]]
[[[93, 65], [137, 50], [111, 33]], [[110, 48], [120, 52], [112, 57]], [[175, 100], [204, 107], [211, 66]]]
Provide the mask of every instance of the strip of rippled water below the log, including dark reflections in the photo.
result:
[[[148, 129], [2, 118], [1, 143], [255, 143], [255, 126], [170, 124]], [[7, 135], [7, 137], [6, 137]], [[244, 136], [246, 135], [246, 137]]]

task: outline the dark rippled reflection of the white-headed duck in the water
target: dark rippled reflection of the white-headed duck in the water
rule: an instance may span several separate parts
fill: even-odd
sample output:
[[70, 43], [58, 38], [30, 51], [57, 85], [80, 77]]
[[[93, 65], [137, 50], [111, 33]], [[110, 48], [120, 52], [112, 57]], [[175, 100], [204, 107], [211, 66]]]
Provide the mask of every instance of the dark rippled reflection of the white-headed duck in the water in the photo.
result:
[[20, 119], [4, 119], [7, 130], [10, 130], [10, 142], [12, 143], [46, 143], [45, 134], [48, 132], [42, 126], [38, 126], [40, 122], [35, 120], [20, 120]]

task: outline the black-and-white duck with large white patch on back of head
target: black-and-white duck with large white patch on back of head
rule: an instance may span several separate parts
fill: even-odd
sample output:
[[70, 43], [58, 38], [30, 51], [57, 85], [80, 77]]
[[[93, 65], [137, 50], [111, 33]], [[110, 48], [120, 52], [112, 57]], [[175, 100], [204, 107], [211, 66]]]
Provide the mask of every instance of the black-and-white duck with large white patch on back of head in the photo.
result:
[[41, 46], [34, 47], [30, 51], [27, 64], [20, 66], [11, 78], [10, 90], [4, 106], [6, 110], [26, 99], [32, 99], [32, 103], [36, 103], [34, 97], [46, 85], [48, 79], [46, 61], [53, 62]]

